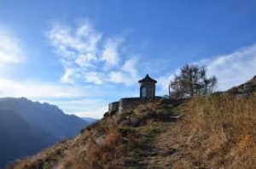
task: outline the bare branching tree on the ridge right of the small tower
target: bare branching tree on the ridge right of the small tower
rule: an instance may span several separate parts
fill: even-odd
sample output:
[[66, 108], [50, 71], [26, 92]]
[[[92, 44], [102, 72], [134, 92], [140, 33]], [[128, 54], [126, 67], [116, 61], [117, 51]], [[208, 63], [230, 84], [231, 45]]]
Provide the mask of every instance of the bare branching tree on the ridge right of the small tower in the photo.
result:
[[176, 99], [206, 95], [213, 92], [216, 84], [216, 76], [207, 77], [205, 67], [184, 65], [180, 75], [176, 75], [170, 83], [169, 94]]

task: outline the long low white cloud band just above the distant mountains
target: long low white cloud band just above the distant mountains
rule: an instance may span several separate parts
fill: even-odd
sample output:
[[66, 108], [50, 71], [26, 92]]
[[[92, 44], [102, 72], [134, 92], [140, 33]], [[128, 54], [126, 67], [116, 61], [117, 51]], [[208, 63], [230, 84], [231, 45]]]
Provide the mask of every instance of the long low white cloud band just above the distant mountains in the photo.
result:
[[34, 101], [55, 104], [65, 113], [102, 118], [108, 110], [108, 96], [113, 91], [104, 91], [95, 86], [70, 86], [53, 82], [16, 81], [0, 77], [0, 97], [26, 97]]

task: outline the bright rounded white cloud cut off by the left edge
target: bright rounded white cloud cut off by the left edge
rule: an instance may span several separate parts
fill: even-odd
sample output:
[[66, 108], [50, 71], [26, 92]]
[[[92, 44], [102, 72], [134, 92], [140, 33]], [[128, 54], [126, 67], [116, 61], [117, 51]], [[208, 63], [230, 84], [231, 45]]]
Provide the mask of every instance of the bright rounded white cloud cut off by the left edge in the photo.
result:
[[19, 40], [8, 30], [0, 28], [0, 65], [24, 61], [24, 52]]

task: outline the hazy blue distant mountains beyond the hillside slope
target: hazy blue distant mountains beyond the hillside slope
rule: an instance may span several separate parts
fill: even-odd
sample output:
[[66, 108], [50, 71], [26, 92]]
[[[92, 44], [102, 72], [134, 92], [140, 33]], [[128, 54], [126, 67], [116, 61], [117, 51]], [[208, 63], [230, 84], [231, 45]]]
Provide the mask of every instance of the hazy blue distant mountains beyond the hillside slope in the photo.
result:
[[74, 137], [90, 124], [89, 120], [26, 98], [0, 99], [0, 168], [17, 157], [33, 155], [61, 139]]

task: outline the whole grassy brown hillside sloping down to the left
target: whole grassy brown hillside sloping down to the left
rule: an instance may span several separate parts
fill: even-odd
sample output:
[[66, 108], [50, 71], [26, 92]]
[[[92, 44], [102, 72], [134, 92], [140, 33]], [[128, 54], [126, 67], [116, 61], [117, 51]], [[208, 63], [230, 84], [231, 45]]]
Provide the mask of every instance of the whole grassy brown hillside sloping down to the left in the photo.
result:
[[255, 103], [211, 96], [143, 104], [10, 168], [255, 168]]

